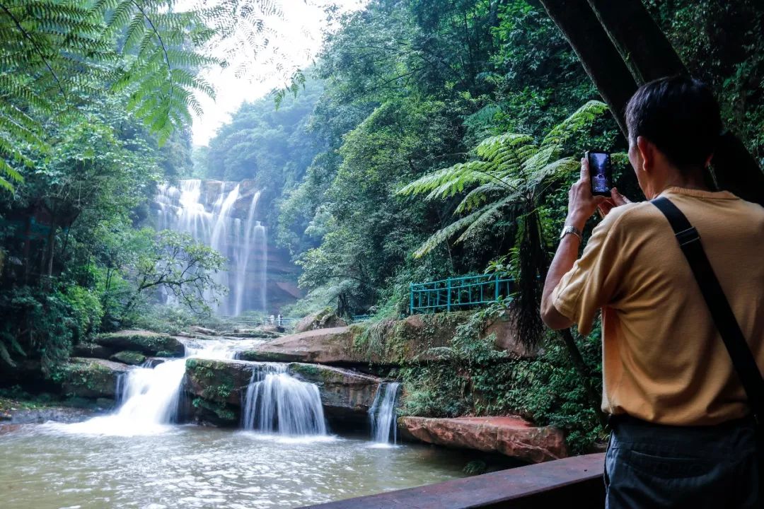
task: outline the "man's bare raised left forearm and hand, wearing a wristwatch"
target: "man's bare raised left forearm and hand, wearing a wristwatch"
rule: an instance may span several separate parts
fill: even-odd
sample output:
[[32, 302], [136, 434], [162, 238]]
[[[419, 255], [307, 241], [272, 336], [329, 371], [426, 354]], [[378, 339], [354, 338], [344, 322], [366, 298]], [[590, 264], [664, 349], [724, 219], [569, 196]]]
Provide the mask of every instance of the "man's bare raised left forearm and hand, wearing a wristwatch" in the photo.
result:
[[[607, 198], [604, 196], [591, 194], [589, 162], [584, 157], [581, 159], [581, 178], [568, 192], [568, 218], [565, 219], [565, 224], [578, 228], [578, 231], [584, 230], [586, 220], [591, 217], [591, 214], [594, 214], [597, 206], [602, 205], [606, 200]], [[573, 324], [570, 318], [555, 308], [552, 292], [559, 284], [562, 276], [573, 268], [573, 264], [578, 259], [580, 242], [575, 235], [562, 237], [555, 258], [552, 259], [552, 265], [549, 266], [549, 272], [546, 274], [544, 292], [541, 297], [541, 319], [550, 329], [566, 329]]]

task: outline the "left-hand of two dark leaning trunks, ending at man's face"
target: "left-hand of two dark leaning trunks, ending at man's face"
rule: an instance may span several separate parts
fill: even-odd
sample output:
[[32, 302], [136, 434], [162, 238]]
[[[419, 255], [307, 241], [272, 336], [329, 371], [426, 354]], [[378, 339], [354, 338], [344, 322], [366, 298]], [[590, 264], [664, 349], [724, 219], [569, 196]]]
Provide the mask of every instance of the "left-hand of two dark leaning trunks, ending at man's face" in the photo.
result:
[[[626, 136], [623, 112], [636, 92], [636, 81], [587, 0], [541, 0], [541, 3], [573, 47]], [[620, 5], [620, 2], [613, 3]]]

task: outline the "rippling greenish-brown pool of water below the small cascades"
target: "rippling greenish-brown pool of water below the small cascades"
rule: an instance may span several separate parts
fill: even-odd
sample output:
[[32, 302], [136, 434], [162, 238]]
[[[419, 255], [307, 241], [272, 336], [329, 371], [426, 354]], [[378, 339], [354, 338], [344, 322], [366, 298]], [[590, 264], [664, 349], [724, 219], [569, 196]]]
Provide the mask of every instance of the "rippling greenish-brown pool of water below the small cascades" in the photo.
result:
[[445, 449], [193, 425], [133, 437], [41, 424], [0, 436], [3, 509], [299, 507], [464, 476]]

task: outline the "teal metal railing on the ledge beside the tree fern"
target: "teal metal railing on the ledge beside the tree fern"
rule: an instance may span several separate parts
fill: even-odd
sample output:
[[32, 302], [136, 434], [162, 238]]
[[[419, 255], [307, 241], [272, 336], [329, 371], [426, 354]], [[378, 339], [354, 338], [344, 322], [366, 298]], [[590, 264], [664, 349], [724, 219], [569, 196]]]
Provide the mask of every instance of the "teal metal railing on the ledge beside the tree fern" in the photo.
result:
[[515, 280], [506, 274], [465, 275], [426, 283], [411, 283], [410, 314], [474, 308], [507, 298]]

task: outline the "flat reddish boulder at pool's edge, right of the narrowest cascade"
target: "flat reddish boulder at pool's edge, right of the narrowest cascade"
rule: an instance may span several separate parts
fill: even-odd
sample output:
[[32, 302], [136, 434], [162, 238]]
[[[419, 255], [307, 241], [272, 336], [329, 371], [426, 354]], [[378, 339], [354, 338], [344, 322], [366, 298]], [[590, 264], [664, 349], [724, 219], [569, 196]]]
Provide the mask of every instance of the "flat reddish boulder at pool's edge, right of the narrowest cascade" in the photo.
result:
[[484, 453], [501, 453], [529, 463], [568, 456], [565, 437], [555, 427], [534, 427], [519, 417], [400, 417], [403, 437]]

